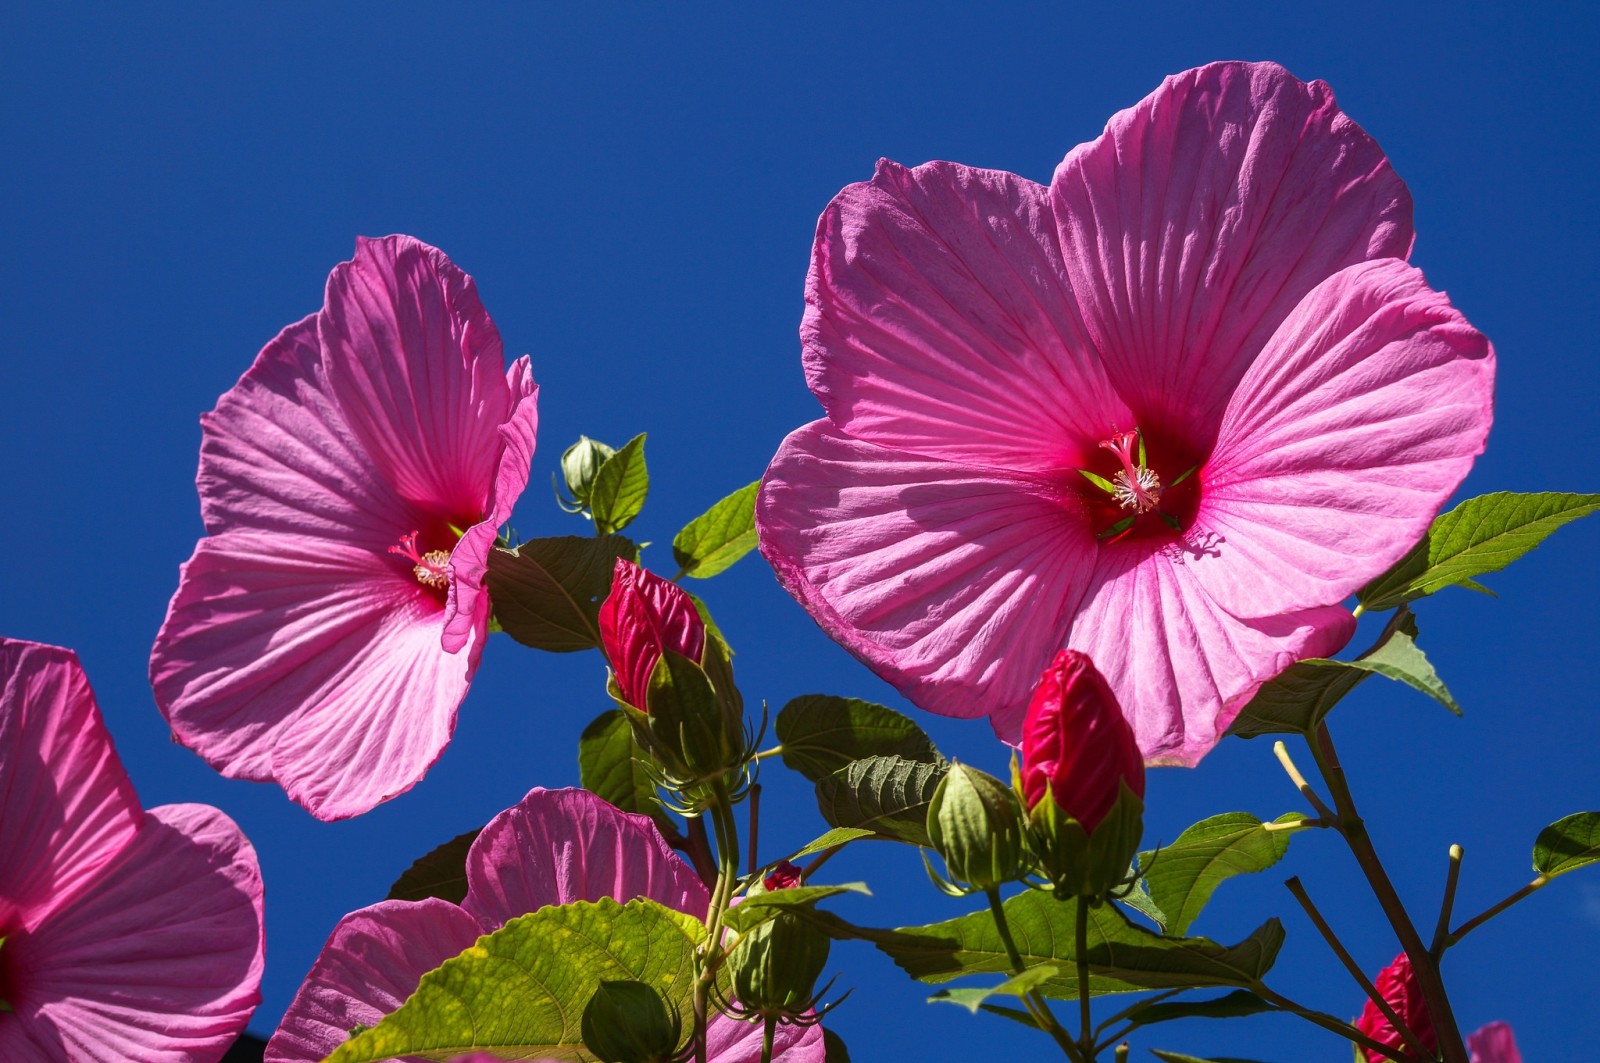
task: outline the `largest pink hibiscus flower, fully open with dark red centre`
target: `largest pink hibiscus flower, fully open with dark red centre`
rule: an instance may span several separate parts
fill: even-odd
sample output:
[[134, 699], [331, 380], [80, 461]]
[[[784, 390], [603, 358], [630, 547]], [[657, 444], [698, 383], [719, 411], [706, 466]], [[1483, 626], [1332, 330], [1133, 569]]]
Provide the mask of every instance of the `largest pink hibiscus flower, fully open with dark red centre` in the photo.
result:
[[1170, 77], [1048, 187], [882, 162], [818, 223], [827, 418], [766, 471], [762, 551], [926, 709], [1014, 744], [1070, 647], [1194, 764], [1483, 448], [1493, 352], [1410, 248], [1382, 150], [1272, 64]]

